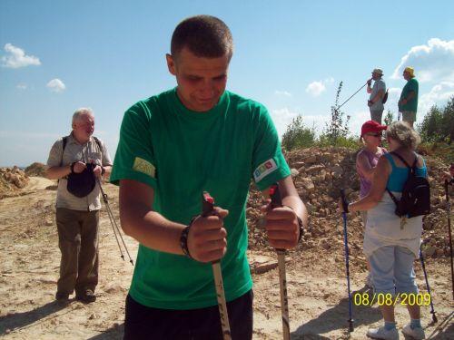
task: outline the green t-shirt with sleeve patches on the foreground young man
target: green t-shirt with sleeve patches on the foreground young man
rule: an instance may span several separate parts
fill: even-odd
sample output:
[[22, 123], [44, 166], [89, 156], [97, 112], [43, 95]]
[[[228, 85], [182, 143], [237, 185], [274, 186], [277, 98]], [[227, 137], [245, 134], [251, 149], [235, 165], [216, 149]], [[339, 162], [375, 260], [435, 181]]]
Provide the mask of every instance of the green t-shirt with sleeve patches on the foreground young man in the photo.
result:
[[[188, 224], [202, 211], [202, 191], [229, 210], [222, 278], [227, 301], [252, 288], [246, 257], [246, 201], [290, 175], [271, 117], [258, 102], [224, 92], [209, 112], [183, 106], [176, 88], [125, 112], [111, 181], [137, 180], [154, 189], [153, 209]], [[140, 245], [130, 294], [144, 306], [194, 309], [217, 304], [211, 264]]]

